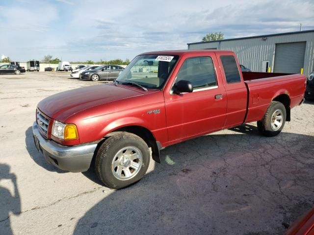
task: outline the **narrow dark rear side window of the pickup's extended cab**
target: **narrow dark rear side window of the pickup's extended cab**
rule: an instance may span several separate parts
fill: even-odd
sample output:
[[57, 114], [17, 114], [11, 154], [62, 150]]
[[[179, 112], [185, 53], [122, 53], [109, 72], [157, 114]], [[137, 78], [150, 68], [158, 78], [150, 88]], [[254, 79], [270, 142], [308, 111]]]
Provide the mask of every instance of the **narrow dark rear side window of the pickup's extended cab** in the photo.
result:
[[232, 55], [222, 55], [220, 56], [220, 60], [225, 71], [227, 83], [240, 82], [241, 78], [235, 62], [235, 57]]

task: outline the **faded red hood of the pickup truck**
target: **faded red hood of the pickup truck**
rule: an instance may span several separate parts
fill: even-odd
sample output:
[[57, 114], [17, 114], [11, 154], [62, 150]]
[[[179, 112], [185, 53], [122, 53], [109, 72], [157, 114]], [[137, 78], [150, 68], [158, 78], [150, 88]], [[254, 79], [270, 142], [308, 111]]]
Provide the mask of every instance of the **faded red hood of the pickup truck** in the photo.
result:
[[113, 85], [96, 85], [51, 95], [38, 103], [41, 112], [64, 122], [72, 115], [101, 104], [142, 95], [142, 93]]

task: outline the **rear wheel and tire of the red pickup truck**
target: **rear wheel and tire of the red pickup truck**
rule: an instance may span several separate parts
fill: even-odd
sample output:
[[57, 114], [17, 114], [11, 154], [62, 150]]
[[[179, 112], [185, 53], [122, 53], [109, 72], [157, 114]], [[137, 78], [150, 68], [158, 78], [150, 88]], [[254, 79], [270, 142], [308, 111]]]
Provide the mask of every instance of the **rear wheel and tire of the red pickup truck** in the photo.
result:
[[257, 122], [258, 130], [267, 137], [277, 136], [285, 126], [286, 117], [285, 105], [272, 101], [262, 120]]

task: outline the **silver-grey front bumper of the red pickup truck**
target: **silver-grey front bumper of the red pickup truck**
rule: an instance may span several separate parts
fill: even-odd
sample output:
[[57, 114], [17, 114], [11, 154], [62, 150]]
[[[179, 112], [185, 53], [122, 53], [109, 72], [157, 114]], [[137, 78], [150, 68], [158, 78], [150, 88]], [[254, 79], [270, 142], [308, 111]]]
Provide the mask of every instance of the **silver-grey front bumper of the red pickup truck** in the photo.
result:
[[97, 147], [97, 143], [64, 146], [46, 140], [40, 134], [36, 122], [33, 124], [33, 137], [38, 151], [44, 155], [48, 163], [70, 172], [88, 170]]

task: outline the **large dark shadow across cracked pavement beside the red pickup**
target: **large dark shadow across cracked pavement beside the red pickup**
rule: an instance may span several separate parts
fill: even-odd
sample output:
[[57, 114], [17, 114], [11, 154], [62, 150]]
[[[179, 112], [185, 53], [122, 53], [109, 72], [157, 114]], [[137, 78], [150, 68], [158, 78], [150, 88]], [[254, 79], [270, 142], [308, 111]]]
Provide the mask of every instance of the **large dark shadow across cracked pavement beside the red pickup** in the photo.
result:
[[231, 130], [165, 148], [161, 164], [111, 190], [74, 234], [283, 234], [314, 205], [314, 137]]

